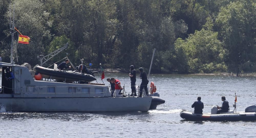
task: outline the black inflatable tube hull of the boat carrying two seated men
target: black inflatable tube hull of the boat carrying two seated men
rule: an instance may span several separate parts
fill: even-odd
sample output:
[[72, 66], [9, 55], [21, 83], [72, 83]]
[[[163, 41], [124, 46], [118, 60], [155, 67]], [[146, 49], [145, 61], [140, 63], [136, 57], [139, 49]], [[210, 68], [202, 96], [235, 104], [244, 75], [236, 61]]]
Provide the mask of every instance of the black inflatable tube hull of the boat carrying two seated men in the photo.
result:
[[254, 121], [256, 120], [255, 112], [226, 113], [226, 114], [196, 114], [182, 111], [180, 117], [191, 121]]

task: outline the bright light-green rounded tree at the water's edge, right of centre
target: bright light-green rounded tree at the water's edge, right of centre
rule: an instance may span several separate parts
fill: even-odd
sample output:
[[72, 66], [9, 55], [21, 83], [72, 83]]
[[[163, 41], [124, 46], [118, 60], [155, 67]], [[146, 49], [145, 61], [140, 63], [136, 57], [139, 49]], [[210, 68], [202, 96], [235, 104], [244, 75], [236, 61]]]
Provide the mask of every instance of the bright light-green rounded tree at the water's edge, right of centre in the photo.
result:
[[[202, 29], [191, 34], [185, 41], [177, 39], [175, 50], [178, 71], [180, 73], [225, 71], [226, 66], [223, 63], [225, 50], [217, 39], [217, 35], [217, 32]], [[221, 68], [219, 64], [223, 67]]]

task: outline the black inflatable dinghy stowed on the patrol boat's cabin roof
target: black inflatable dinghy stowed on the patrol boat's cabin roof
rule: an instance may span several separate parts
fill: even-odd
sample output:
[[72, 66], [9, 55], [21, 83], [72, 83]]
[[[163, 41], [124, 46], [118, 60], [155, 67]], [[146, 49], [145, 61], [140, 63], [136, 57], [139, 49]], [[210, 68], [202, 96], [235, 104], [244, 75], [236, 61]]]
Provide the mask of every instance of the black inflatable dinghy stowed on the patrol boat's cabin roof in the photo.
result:
[[58, 79], [63, 81], [85, 81], [85, 82], [92, 82], [96, 80], [95, 77], [89, 74], [83, 74], [78, 72], [72, 72], [72, 71], [62, 71], [62, 70], [54, 70], [50, 68], [41, 67], [39, 65], [36, 65], [34, 67], [35, 72], [39, 72], [42, 74], [43, 78], [51, 78], [51, 79]]

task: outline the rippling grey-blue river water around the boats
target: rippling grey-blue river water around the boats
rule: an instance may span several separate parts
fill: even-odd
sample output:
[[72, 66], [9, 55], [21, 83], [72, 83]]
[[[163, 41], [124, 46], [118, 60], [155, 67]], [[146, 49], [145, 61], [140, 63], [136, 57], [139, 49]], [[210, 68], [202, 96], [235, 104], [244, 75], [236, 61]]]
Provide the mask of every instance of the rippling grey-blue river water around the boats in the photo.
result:
[[[105, 73], [105, 84], [108, 77], [119, 79], [130, 93], [128, 74]], [[254, 121], [185, 121], [179, 116], [182, 110], [193, 111], [191, 105], [198, 96], [204, 112], [220, 106], [221, 96], [226, 96], [232, 109], [235, 93], [237, 111], [244, 111], [255, 104], [255, 76], [153, 74], [150, 81], [165, 100], [156, 110], [20, 113], [1, 109], [0, 137], [255, 137]]]

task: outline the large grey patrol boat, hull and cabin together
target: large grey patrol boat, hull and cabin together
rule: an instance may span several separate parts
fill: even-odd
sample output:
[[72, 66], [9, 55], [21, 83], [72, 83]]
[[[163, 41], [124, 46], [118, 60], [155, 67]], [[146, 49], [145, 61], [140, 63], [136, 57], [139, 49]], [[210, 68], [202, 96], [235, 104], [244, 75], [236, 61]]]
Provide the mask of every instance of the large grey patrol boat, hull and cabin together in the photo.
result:
[[[9, 67], [14, 79], [7, 81]], [[97, 84], [35, 80], [24, 65], [0, 61], [0, 106], [14, 112], [116, 112], [150, 109], [152, 97], [111, 97], [109, 87]], [[8, 84], [9, 83], [9, 84]], [[0, 87], [0, 88], [1, 88]]]

